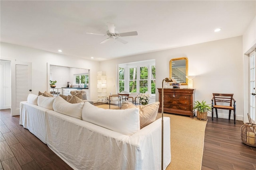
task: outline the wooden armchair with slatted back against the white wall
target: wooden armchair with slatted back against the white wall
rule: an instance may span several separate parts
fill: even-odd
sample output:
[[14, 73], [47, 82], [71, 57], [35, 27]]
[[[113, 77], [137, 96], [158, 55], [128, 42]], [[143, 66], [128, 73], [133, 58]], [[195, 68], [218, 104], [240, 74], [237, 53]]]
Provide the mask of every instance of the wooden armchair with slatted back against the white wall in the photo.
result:
[[[218, 118], [217, 109], [229, 110], [228, 120], [230, 120], [231, 110], [234, 111], [234, 124], [236, 124], [236, 100], [233, 98], [234, 94], [220, 94], [213, 93], [212, 97], [212, 120], [213, 120], [213, 109], [216, 111], [216, 118]], [[232, 101], [234, 105], [232, 107]], [[229, 106], [225, 106], [224, 103], [229, 103]]]

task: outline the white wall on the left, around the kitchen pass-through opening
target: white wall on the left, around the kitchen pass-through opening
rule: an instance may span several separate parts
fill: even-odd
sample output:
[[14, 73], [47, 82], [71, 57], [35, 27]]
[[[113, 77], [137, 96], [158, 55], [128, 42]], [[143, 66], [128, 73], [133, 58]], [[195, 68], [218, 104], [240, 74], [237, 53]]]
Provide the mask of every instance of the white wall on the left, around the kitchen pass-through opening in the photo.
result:
[[89, 69], [90, 84], [94, 84], [93, 86], [90, 86], [91, 100], [98, 100], [96, 85], [97, 72], [100, 70], [100, 64], [98, 61], [91, 61], [2, 42], [0, 43], [0, 47], [1, 58], [9, 58], [10, 60], [16, 59], [17, 61], [32, 63], [33, 94], [38, 94], [38, 91], [48, 90], [47, 86], [49, 86], [49, 82], [47, 80], [47, 64], [52, 64]]

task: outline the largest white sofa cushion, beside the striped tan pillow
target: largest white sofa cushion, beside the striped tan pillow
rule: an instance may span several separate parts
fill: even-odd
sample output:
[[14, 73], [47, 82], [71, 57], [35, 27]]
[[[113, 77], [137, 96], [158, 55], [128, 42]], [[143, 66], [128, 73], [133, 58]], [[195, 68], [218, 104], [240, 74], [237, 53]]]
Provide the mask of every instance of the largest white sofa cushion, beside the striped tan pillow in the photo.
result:
[[137, 108], [102, 109], [85, 102], [82, 109], [82, 120], [129, 136], [140, 130], [140, 114]]

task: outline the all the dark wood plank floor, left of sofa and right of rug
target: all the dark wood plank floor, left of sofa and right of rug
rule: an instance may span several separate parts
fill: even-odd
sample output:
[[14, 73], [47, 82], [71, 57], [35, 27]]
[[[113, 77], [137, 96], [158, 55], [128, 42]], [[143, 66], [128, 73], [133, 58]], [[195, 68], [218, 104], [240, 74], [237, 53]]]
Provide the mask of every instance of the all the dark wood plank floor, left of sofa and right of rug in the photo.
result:
[[[19, 125], [20, 116], [0, 110], [0, 170], [70, 170], [47, 145]], [[242, 121], [208, 117], [202, 170], [256, 170], [256, 148], [240, 139]]]

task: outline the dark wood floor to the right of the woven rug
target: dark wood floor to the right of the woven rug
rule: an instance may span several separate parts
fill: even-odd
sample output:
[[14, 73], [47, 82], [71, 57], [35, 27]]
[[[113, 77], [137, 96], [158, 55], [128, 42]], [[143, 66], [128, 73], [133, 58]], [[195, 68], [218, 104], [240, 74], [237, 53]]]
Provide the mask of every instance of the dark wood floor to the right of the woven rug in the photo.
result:
[[244, 123], [208, 117], [204, 136], [202, 170], [256, 170], [256, 148], [242, 143]]

